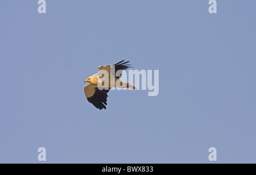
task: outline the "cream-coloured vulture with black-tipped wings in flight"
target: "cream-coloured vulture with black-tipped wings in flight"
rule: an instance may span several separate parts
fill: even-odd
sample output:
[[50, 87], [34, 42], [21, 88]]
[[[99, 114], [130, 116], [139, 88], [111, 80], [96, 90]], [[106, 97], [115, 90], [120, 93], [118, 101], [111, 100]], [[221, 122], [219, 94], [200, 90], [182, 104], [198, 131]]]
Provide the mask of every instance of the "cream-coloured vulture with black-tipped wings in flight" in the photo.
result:
[[112, 87], [137, 89], [137, 87], [119, 79], [123, 70], [132, 68], [131, 64], [127, 64], [129, 62], [122, 60], [114, 65], [98, 66], [99, 72], [84, 81], [89, 82], [88, 85], [84, 86], [84, 93], [88, 102], [92, 103], [97, 109], [106, 109], [108, 92]]

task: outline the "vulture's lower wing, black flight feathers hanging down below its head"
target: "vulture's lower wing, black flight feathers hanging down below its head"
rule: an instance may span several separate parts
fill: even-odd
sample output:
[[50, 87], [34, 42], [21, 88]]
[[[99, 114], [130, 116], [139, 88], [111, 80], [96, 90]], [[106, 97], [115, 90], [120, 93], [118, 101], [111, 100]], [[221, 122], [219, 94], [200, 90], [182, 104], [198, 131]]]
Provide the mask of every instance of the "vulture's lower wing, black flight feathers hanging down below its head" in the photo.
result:
[[106, 109], [107, 103], [107, 97], [108, 97], [108, 90], [100, 90], [97, 86], [94, 86], [92, 84], [88, 84], [84, 86], [84, 93], [85, 97], [87, 98], [88, 102], [92, 103], [97, 109]]

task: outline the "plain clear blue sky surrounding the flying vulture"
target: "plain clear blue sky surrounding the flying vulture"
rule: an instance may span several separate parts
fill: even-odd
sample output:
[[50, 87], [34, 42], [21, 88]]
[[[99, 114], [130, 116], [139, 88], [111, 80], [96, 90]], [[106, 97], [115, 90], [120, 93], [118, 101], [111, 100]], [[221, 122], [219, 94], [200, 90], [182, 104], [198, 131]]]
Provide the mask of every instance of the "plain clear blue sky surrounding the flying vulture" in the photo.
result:
[[[256, 1], [0, 1], [0, 163], [256, 163]], [[84, 95], [97, 66], [159, 70], [159, 95]]]

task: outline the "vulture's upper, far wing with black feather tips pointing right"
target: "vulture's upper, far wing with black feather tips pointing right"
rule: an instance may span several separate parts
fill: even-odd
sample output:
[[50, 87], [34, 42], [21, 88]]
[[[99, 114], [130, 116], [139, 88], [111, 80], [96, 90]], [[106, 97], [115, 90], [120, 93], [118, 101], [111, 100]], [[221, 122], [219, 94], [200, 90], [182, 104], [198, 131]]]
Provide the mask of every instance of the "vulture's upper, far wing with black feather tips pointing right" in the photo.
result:
[[[122, 70], [125, 70], [125, 69], [128, 69], [128, 68], [131, 68], [131, 64], [127, 64], [128, 62], [130, 61], [126, 61], [124, 62], [125, 60], [122, 60], [120, 62], [117, 62], [116, 64], [114, 65], [106, 65], [106, 66], [98, 66], [98, 69], [101, 71], [101, 70], [107, 70], [108, 73], [109, 73], [109, 76], [112, 75], [112, 76], [115, 76], [117, 78], [120, 78], [121, 75], [122, 75]], [[115, 72], [111, 71], [110, 72], [110, 69], [111, 68], [115, 68]], [[121, 70], [120, 72], [118, 72], [117, 74], [117, 71], [118, 70]]]

